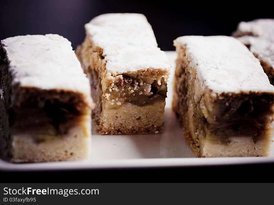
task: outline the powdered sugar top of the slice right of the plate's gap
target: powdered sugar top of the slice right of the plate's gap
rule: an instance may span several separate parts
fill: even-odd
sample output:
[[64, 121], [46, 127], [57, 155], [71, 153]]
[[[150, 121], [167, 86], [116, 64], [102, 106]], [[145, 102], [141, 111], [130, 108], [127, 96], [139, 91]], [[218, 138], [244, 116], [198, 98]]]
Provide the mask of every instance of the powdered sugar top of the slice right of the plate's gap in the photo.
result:
[[202, 88], [215, 93], [273, 92], [259, 60], [240, 41], [227, 36], [184, 36], [174, 41], [186, 48]]

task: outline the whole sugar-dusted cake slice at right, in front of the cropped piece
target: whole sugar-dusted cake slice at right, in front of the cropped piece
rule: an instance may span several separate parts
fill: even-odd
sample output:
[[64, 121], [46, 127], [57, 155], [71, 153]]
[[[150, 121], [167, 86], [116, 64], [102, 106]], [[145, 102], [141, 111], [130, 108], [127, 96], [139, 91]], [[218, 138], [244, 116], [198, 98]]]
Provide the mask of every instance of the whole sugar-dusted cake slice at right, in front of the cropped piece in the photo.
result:
[[184, 36], [172, 108], [197, 157], [269, 156], [274, 89], [257, 58], [225, 36]]

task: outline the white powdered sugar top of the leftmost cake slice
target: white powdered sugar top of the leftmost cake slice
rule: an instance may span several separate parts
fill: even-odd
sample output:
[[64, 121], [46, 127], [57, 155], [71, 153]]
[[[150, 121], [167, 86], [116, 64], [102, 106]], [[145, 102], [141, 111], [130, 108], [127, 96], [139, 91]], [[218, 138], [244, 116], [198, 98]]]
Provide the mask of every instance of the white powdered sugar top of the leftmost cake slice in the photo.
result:
[[72, 90], [89, 97], [89, 80], [71, 42], [57, 34], [26, 35], [1, 41], [12, 84], [39, 89]]

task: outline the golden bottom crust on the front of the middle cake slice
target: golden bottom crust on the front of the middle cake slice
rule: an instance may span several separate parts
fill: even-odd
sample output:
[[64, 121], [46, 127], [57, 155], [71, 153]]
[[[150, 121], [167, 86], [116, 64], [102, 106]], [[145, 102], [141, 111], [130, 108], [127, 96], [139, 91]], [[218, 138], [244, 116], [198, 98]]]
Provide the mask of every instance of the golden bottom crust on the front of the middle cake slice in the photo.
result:
[[163, 131], [165, 100], [139, 106], [125, 103], [117, 109], [103, 109], [99, 134], [158, 134]]

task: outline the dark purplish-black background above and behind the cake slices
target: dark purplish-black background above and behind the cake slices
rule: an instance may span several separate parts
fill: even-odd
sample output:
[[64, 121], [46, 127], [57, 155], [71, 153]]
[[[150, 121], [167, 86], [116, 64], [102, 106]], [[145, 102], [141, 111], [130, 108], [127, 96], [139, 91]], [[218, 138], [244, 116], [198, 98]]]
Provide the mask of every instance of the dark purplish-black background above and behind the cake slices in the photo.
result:
[[[108, 12], [143, 13], [162, 50], [174, 50], [172, 41], [184, 35], [231, 35], [240, 21], [274, 18], [271, 1], [108, 1], [6, 0], [0, 1], [0, 39], [26, 34], [57, 33], [72, 42], [84, 37], [84, 24]], [[184, 2], [184, 3], [182, 3]]]

